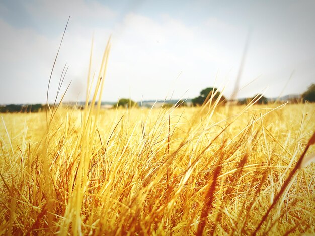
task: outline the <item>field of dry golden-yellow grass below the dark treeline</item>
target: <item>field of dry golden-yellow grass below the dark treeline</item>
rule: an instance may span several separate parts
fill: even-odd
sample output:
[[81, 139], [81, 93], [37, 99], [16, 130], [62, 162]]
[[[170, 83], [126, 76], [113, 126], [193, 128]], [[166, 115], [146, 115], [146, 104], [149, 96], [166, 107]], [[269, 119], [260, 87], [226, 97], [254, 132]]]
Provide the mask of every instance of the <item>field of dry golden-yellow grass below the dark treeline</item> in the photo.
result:
[[1, 114], [0, 234], [314, 233], [315, 165], [298, 162], [314, 112], [208, 103]]

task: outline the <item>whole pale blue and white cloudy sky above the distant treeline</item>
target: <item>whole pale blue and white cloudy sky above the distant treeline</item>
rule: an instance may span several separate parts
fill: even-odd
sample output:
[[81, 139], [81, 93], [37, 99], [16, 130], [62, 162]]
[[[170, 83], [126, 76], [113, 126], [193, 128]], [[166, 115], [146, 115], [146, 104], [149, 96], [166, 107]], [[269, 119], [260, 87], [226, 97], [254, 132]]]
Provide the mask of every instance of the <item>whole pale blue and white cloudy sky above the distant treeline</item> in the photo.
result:
[[[0, 104], [85, 100], [110, 36], [103, 101], [193, 98], [206, 87], [231, 97], [301, 94], [315, 83], [315, 1], [0, 2]], [[248, 38], [248, 43], [247, 42]]]

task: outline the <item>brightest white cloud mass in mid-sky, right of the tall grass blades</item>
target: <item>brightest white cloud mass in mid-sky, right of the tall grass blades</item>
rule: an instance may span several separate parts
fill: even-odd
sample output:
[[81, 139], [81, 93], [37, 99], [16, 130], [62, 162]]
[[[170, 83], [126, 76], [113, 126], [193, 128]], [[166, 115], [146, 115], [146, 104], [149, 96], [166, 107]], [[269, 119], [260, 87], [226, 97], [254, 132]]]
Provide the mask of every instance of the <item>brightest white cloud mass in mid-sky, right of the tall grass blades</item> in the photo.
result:
[[[204, 86], [211, 86], [218, 68], [231, 69], [234, 52], [220, 49], [203, 31], [168, 16], [156, 22], [128, 14], [113, 33], [108, 87], [119, 83], [117, 97], [128, 96], [131, 89], [137, 100], [142, 95], [163, 99], [173, 89], [175, 97], [188, 89], [186, 96], [195, 96]], [[172, 88], [181, 72], [176, 89]]]

